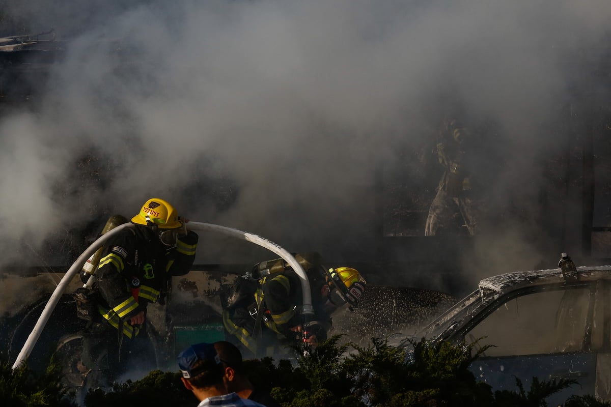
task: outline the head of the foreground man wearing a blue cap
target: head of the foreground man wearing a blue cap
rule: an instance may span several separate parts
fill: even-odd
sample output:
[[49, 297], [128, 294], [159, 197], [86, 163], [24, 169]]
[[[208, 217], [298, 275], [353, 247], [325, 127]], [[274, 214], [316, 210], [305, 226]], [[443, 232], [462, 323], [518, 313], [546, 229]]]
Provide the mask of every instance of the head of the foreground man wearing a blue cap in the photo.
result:
[[202, 391], [227, 393], [224, 366], [214, 345], [205, 342], [191, 345], [178, 355], [177, 361], [183, 384], [196, 395]]

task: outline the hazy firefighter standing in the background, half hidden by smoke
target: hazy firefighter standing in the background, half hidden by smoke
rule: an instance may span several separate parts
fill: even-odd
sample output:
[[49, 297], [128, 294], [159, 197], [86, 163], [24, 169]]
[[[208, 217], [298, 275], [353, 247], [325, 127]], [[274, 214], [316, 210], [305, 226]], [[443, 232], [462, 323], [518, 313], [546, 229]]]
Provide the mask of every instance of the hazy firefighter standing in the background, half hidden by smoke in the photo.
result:
[[477, 217], [469, 179], [470, 134], [458, 120], [445, 119], [437, 134], [436, 152], [444, 173], [426, 218], [425, 236], [434, 236], [459, 216], [469, 236], [477, 233]]

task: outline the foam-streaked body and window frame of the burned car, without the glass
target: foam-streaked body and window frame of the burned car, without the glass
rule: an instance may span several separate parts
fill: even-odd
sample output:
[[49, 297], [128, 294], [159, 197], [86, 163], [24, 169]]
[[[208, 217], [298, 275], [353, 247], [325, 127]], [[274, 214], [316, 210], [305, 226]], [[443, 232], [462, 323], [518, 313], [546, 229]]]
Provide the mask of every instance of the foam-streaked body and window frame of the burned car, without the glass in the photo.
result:
[[[525, 388], [533, 377], [539, 380], [560, 378], [577, 380], [571, 386], [547, 399], [558, 405], [570, 395], [595, 395], [600, 400], [611, 400], [611, 266], [577, 267], [575, 275], [566, 276], [560, 269], [514, 272], [480, 281], [477, 290], [458, 301], [424, 328], [419, 336], [433, 341], [446, 340], [453, 344], [473, 342], [474, 328], [511, 300], [525, 295], [562, 291], [558, 312], [566, 311], [566, 293], [585, 289], [587, 304], [581, 344], [578, 349], [558, 349], [542, 353], [513, 355], [480, 355], [470, 366], [477, 380], [488, 383], [494, 390], [515, 391], [516, 377]], [[571, 295], [569, 295], [569, 298]], [[480, 342], [478, 342], [478, 345]], [[482, 342], [488, 344], [488, 342]], [[494, 345], [490, 343], [491, 345]], [[477, 348], [477, 347], [476, 347]]]

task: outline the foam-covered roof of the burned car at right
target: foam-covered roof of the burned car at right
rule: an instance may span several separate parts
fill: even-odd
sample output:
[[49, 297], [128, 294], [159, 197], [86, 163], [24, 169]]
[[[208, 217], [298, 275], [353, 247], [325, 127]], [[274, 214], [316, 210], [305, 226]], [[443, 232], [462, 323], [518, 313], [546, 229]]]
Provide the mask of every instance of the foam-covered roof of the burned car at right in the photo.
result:
[[[611, 265], [595, 265], [577, 267], [571, 278], [577, 281], [595, 281], [598, 279], [611, 279]], [[565, 283], [567, 278], [560, 268], [549, 270], [530, 270], [524, 272], [511, 272], [482, 279], [478, 284], [480, 290], [493, 290], [497, 294], [504, 294], [509, 290], [516, 290], [527, 286], [543, 284]]]

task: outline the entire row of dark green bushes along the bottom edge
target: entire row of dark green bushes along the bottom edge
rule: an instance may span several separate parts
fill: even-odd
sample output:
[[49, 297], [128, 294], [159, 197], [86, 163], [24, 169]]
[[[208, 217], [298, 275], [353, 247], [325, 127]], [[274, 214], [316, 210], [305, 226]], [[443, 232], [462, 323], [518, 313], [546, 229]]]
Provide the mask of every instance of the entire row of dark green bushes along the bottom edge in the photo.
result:
[[[574, 380], [539, 381], [529, 391], [516, 378], [516, 391], [492, 392], [478, 382], [469, 366], [488, 347], [453, 346], [448, 342], [408, 340], [404, 347], [372, 339], [368, 347], [340, 344], [342, 336], [323, 342], [295, 364], [271, 358], [244, 362], [255, 386], [269, 391], [284, 407], [436, 407], [477, 405], [489, 407], [546, 406], [546, 398], [576, 383]], [[115, 383], [112, 389], [90, 390], [86, 407], [172, 405], [193, 407], [196, 398], [185, 389], [178, 372], [154, 370], [142, 380]], [[27, 367], [14, 372], [2, 364], [2, 406], [74, 407], [73, 398], [60, 384], [60, 368], [51, 363], [43, 375]], [[567, 407], [611, 407], [594, 397], [573, 396]]]

